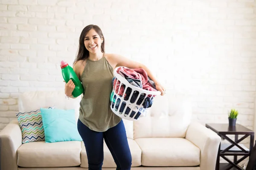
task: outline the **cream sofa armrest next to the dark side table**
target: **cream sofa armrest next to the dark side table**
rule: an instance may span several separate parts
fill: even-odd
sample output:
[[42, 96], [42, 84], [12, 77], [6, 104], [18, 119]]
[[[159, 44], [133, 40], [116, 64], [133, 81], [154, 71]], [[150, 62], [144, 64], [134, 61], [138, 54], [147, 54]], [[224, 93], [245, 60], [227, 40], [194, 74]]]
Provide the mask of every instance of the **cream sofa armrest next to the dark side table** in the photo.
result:
[[198, 122], [192, 122], [186, 132], [186, 139], [199, 147], [200, 170], [215, 170], [221, 137]]

